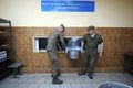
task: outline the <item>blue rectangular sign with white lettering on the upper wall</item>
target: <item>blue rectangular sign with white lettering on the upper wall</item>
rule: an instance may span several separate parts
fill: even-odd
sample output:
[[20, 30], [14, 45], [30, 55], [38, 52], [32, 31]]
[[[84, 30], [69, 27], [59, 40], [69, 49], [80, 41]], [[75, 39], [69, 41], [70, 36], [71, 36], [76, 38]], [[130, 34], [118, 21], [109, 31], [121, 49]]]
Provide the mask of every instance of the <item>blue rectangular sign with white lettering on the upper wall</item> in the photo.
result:
[[94, 12], [94, 0], [41, 0], [42, 11]]

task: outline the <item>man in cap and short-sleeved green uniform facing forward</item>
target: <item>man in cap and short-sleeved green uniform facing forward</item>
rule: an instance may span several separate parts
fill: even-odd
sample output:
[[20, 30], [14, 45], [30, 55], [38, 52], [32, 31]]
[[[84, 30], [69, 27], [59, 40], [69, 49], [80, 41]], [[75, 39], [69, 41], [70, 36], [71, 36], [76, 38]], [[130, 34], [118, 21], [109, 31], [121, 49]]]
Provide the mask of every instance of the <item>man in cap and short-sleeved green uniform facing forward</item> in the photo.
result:
[[83, 36], [81, 51], [83, 52], [84, 50], [85, 54], [82, 70], [79, 75], [85, 75], [89, 65], [88, 76], [90, 79], [93, 79], [93, 68], [96, 61], [96, 55], [99, 53], [99, 56], [102, 56], [103, 40], [100, 34], [95, 33], [94, 26], [89, 26], [88, 32], [89, 33]]

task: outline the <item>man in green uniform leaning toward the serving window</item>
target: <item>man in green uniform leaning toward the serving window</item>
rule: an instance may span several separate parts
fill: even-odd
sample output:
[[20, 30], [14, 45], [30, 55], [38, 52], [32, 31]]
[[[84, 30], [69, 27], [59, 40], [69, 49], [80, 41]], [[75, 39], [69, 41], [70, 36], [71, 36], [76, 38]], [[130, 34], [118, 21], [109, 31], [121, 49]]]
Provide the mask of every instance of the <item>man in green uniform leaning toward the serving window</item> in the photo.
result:
[[62, 84], [63, 80], [58, 79], [59, 66], [58, 66], [58, 57], [57, 51], [59, 47], [61, 50], [65, 48], [64, 38], [62, 36], [62, 32], [64, 32], [64, 25], [61, 24], [55, 31], [51, 32], [48, 36], [48, 44], [47, 44], [47, 53], [51, 59], [51, 70], [52, 70], [52, 84]]

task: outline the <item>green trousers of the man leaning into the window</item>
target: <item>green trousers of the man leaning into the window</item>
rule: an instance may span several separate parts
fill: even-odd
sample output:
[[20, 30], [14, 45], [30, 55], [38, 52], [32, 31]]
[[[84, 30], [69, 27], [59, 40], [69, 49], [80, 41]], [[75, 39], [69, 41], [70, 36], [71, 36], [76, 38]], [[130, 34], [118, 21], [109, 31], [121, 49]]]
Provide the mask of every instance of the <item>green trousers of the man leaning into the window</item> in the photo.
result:
[[47, 52], [51, 61], [52, 75], [57, 76], [59, 70], [57, 52]]

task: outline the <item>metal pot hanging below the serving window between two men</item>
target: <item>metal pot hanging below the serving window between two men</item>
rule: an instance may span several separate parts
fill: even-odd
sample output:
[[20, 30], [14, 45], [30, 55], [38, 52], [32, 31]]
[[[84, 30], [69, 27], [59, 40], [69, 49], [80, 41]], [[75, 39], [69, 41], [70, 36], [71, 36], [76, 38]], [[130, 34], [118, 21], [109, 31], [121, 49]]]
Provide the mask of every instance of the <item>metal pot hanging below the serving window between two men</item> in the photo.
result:
[[70, 50], [68, 51], [68, 55], [70, 59], [79, 59], [80, 58], [80, 51]]

